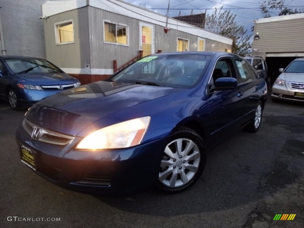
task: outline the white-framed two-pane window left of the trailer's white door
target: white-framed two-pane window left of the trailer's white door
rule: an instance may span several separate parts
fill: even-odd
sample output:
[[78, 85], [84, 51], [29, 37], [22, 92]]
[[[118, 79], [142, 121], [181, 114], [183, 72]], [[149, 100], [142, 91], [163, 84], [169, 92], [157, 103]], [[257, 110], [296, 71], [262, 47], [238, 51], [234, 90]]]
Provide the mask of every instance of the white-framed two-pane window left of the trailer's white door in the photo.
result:
[[103, 21], [104, 43], [129, 45], [129, 27], [125, 24]]

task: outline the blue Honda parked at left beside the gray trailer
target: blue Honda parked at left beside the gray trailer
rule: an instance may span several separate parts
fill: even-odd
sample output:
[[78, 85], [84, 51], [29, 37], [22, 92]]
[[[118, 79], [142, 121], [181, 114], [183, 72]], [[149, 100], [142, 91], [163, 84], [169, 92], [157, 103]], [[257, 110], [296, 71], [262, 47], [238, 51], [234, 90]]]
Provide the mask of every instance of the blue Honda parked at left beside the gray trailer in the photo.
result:
[[80, 85], [45, 59], [0, 56], [0, 99], [9, 101], [14, 110]]

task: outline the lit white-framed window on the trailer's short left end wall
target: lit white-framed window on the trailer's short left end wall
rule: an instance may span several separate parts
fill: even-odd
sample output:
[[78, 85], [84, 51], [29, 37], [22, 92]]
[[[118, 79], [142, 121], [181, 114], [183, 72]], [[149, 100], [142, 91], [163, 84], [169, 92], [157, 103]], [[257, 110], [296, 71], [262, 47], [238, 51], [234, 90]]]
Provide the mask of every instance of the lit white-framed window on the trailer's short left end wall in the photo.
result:
[[74, 43], [73, 20], [55, 23], [56, 44]]

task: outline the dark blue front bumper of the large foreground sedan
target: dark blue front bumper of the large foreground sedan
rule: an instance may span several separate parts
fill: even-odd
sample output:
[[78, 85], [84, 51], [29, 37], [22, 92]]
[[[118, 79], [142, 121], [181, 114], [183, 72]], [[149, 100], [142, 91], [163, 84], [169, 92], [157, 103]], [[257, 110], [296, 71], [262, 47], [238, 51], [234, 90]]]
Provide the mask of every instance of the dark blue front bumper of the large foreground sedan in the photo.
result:
[[22, 125], [17, 130], [16, 141], [19, 150], [26, 146], [33, 151], [35, 172], [48, 181], [74, 191], [107, 195], [135, 192], [152, 186], [157, 181], [168, 143], [163, 138], [119, 150], [74, 150], [71, 145], [60, 148], [35, 141]]

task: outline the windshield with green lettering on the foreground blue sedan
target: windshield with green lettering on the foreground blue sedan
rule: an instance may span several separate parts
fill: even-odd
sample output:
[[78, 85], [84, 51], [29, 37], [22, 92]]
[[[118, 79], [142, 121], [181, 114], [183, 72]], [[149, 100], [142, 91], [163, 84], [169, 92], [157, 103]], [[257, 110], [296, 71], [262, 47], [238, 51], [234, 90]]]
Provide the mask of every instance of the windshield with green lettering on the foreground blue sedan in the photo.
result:
[[199, 54], [150, 55], [138, 60], [110, 80], [118, 83], [189, 88], [200, 80], [210, 58]]

